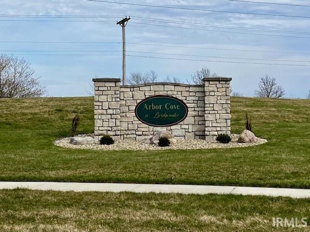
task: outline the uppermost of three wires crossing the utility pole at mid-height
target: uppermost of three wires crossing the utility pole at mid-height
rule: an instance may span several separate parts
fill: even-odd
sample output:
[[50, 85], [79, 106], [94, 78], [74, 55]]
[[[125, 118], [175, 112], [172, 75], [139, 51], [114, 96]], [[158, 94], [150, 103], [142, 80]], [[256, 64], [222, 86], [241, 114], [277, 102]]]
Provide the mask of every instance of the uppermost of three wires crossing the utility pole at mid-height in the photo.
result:
[[[67, 41], [67, 42], [64, 42], [64, 41], [0, 41], [0, 43], [122, 44], [122, 42], [78, 42], [78, 41]], [[214, 47], [195, 47], [195, 46], [167, 45], [167, 44], [155, 44], [155, 43], [127, 43], [127, 44], [145, 45], [145, 46], [160, 46], [160, 47], [175, 47], [175, 48], [189, 48], [189, 49], [239, 51], [239, 52], [284, 53], [284, 54], [304, 54], [304, 55], [310, 54], [310, 52], [246, 50], [246, 49], [232, 49], [232, 48], [214, 48]]]

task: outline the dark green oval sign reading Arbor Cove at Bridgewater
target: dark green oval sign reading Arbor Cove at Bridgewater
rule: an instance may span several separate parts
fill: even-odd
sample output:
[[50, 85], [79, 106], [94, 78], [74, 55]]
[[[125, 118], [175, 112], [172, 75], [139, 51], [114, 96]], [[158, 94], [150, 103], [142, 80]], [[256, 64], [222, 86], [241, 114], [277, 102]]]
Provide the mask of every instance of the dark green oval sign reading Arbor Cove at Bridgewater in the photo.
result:
[[144, 124], [153, 127], [169, 127], [182, 122], [188, 114], [188, 109], [180, 99], [157, 95], [139, 102], [135, 113]]

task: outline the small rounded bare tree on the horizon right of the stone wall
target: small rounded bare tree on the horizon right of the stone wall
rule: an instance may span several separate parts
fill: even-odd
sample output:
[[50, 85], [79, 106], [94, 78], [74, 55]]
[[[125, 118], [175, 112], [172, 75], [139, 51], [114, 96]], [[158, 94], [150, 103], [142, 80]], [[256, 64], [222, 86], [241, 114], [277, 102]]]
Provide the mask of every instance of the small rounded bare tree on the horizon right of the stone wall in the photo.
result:
[[255, 95], [259, 98], [282, 98], [284, 97], [284, 89], [277, 84], [276, 78], [265, 75], [261, 77]]

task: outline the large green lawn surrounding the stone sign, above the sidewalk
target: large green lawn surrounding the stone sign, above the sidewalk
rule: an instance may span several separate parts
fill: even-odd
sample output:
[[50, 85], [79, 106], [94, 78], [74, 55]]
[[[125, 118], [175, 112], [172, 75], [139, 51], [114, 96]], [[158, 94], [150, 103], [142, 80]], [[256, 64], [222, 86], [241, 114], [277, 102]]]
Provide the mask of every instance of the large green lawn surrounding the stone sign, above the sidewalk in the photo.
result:
[[0, 180], [310, 188], [310, 101], [232, 98], [232, 132], [252, 117], [269, 143], [217, 150], [70, 150], [53, 141], [93, 132], [93, 98], [0, 99]]

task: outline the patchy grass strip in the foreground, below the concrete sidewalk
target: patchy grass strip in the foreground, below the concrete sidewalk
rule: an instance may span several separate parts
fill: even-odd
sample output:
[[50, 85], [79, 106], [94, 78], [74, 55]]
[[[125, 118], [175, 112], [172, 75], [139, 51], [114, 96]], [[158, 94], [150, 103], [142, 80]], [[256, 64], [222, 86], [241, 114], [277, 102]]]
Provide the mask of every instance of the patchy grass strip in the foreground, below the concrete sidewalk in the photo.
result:
[[1, 232], [310, 232], [273, 227], [307, 217], [310, 199], [0, 190]]

